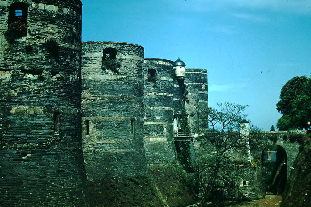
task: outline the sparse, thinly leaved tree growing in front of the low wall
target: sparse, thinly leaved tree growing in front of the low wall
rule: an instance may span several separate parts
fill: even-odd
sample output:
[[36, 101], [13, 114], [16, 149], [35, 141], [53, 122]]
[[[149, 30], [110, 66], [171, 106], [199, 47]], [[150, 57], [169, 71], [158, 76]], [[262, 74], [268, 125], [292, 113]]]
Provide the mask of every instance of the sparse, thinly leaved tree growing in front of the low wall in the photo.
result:
[[197, 170], [205, 174], [201, 178], [204, 196], [199, 206], [204, 206], [207, 200], [213, 199], [220, 183], [237, 186], [236, 171], [232, 170], [236, 166], [232, 164], [226, 152], [233, 150], [245, 152], [249, 149], [248, 139], [243, 138], [239, 133], [240, 122], [247, 117], [242, 112], [248, 106], [229, 102], [217, 105], [219, 109], [203, 109], [199, 115], [201, 123], [198, 128], [207, 128], [208, 125], [210, 130], [196, 130], [199, 134], [198, 142], [202, 143], [201, 146], [207, 148], [207, 152], [210, 149], [214, 151], [209, 152], [207, 156], [200, 156], [197, 161]]

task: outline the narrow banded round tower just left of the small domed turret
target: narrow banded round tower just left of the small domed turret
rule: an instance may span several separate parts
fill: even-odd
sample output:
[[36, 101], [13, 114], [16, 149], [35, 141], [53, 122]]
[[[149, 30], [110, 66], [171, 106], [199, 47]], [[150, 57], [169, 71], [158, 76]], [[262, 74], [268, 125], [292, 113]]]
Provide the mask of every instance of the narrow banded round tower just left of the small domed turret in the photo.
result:
[[175, 160], [173, 61], [145, 59], [145, 151], [147, 164]]

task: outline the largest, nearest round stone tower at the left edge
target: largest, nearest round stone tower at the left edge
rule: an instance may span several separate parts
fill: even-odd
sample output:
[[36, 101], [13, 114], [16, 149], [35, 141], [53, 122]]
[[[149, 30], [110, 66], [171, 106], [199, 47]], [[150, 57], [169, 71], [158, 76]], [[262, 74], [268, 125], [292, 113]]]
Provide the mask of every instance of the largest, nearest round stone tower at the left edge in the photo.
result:
[[0, 2], [0, 204], [87, 206], [79, 0]]

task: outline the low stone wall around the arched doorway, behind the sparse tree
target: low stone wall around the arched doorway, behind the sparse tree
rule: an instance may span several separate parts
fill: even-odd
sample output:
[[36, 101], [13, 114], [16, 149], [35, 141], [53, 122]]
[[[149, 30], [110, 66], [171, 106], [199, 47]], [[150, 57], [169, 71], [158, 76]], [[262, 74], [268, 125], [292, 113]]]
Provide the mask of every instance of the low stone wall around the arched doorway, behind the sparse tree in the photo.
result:
[[[281, 146], [287, 155], [287, 178], [291, 172], [290, 166], [294, 166], [294, 160], [298, 154], [299, 143], [290, 140], [291, 136], [305, 134], [306, 131], [263, 131], [258, 134], [261, 144], [253, 146], [251, 136], [248, 137], [251, 151], [251, 161], [249, 161], [248, 152], [231, 150], [226, 153], [232, 161], [232, 170], [236, 174], [235, 182], [238, 184], [240, 193], [250, 199], [259, 199], [265, 196], [265, 189], [262, 187], [262, 152], [267, 150], [270, 145]], [[248, 133], [247, 133], [248, 134]], [[197, 157], [214, 156], [216, 149], [213, 145], [204, 141], [194, 140], [194, 149]], [[244, 184], [243, 181], [246, 183]], [[234, 197], [238, 194], [226, 194]], [[228, 199], [228, 198], [227, 198]]]

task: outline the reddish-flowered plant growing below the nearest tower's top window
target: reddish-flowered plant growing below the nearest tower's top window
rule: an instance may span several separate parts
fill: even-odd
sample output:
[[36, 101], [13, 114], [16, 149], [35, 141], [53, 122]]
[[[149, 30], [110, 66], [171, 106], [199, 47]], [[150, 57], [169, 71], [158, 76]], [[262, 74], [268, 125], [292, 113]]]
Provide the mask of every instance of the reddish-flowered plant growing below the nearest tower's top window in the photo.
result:
[[13, 21], [9, 24], [5, 32], [5, 38], [8, 42], [24, 37], [27, 34], [27, 25], [21, 21]]

